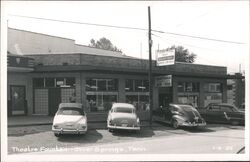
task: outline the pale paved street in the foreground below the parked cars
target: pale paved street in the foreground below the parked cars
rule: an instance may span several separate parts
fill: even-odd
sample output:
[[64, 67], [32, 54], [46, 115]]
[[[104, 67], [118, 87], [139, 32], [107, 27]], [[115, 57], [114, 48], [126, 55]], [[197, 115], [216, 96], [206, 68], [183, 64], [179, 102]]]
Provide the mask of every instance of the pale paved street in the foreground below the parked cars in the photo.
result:
[[139, 133], [93, 129], [86, 135], [60, 138], [56, 138], [50, 129], [49, 125], [9, 128], [9, 154], [40, 154], [40, 151], [45, 154], [79, 151], [81, 154], [236, 153], [244, 146], [242, 126], [212, 124], [200, 129], [174, 130], [168, 125], [158, 125], [153, 129], [145, 127]]

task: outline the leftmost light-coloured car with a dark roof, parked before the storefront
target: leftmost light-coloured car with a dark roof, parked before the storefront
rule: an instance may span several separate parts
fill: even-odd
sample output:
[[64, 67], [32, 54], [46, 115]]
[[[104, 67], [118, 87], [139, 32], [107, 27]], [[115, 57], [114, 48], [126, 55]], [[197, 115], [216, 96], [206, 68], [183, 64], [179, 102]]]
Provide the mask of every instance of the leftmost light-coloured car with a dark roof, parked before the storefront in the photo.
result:
[[61, 134], [85, 134], [87, 116], [80, 103], [61, 103], [55, 114], [52, 131], [56, 137]]

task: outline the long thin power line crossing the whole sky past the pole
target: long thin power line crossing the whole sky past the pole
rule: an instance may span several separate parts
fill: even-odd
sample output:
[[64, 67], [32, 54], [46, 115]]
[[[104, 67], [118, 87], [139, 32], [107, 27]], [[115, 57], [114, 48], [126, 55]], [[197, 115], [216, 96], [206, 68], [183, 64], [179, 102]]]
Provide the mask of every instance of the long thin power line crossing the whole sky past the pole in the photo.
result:
[[[143, 30], [143, 31], [147, 31], [148, 30], [148, 29], [137, 28], [137, 27], [105, 25], [105, 24], [96, 24], [96, 23], [84, 23], [84, 22], [78, 22], [78, 21], [66, 21], [66, 20], [58, 20], [58, 19], [49, 19], [49, 18], [40, 18], [40, 17], [32, 17], [32, 16], [15, 15], [15, 14], [9, 14], [9, 16], [23, 17], [23, 18], [30, 18], [30, 19], [38, 19], [38, 20], [47, 20], [47, 21], [56, 21], [56, 22], [63, 22], [63, 23], [73, 23], [73, 24], [82, 24], [82, 25], [111, 27], [111, 28], [119, 28], [119, 29], [131, 29], [131, 30]], [[157, 33], [161, 33], [161, 34], [177, 35], [177, 36], [182, 36], [182, 37], [189, 37], [189, 38], [195, 38], [195, 39], [203, 39], [203, 40], [223, 42], [223, 43], [245, 44], [245, 43], [242, 43], [242, 42], [227, 41], [227, 40], [221, 40], [221, 39], [213, 39], [213, 38], [193, 36], [193, 35], [186, 35], [186, 34], [179, 34], [179, 33], [166, 32], [166, 31], [153, 30], [153, 29], [151, 31], [157, 32]]]

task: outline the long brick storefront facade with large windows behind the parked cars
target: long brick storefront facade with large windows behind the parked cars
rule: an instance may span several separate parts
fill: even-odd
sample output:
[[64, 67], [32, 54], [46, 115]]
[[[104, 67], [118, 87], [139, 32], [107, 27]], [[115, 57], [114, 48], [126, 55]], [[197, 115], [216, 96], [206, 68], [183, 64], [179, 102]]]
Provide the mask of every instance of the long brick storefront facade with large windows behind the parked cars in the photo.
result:
[[[54, 115], [61, 102], [83, 103], [89, 113], [107, 113], [114, 102], [131, 103], [137, 111], [149, 112], [147, 60], [88, 54], [26, 57], [33, 60], [34, 69], [22, 73], [25, 77], [23, 84], [14, 83], [21, 78], [20, 74], [8, 72], [9, 88], [26, 87], [27, 110], [23, 115]], [[155, 62], [153, 67], [154, 78], [172, 77], [171, 86], [154, 83], [154, 109], [169, 103], [191, 104], [200, 108], [211, 102], [227, 100], [225, 67], [185, 63], [156, 67]], [[9, 102], [13, 102], [13, 95], [10, 90]]]

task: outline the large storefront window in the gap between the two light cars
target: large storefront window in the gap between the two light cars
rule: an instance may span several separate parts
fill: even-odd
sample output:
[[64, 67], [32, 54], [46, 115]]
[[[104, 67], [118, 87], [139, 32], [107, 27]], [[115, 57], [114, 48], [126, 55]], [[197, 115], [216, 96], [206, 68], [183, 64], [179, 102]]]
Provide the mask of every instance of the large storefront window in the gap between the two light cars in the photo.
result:
[[89, 78], [86, 91], [90, 112], [108, 111], [118, 99], [118, 79]]

